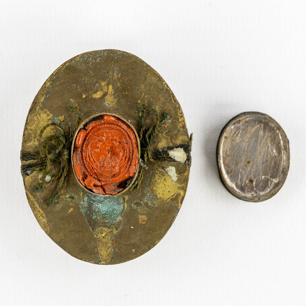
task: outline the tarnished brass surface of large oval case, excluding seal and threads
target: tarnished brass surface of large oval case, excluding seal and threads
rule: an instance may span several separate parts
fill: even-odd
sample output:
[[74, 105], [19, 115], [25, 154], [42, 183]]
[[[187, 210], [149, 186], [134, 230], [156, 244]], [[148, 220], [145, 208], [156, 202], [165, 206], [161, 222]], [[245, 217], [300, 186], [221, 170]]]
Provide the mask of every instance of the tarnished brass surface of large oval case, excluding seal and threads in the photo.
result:
[[[47, 123], [74, 125], [69, 104], [80, 112], [81, 121], [98, 113], [112, 113], [127, 120], [137, 132], [139, 107], [155, 107], [170, 118], [151, 146], [175, 147], [189, 141], [183, 112], [168, 85], [144, 61], [126, 52], [87, 52], [56, 69], [29, 110], [22, 150], [39, 151], [44, 137], [54, 132], [50, 128], [39, 137]], [[145, 121], [153, 125], [155, 115], [148, 112]], [[184, 160], [160, 162], [162, 167], [148, 162], [140, 189], [123, 195], [103, 197], [86, 192], [76, 181], [71, 162], [65, 192], [52, 206], [47, 206], [46, 199], [53, 194], [55, 182], [36, 193], [34, 187], [45, 176], [34, 171], [23, 175], [24, 187], [40, 226], [66, 252], [91, 263], [122, 263], [153, 248], [174, 222], [188, 184], [190, 164]]]

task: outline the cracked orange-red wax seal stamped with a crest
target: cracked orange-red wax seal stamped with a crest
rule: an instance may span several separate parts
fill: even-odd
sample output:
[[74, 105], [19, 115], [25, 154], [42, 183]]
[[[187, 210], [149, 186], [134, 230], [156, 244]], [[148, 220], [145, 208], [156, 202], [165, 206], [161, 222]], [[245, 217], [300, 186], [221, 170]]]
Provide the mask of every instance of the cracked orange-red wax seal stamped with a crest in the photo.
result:
[[133, 129], [118, 117], [102, 115], [80, 129], [73, 149], [73, 166], [80, 182], [98, 194], [116, 194], [118, 184], [134, 177], [138, 142]]

